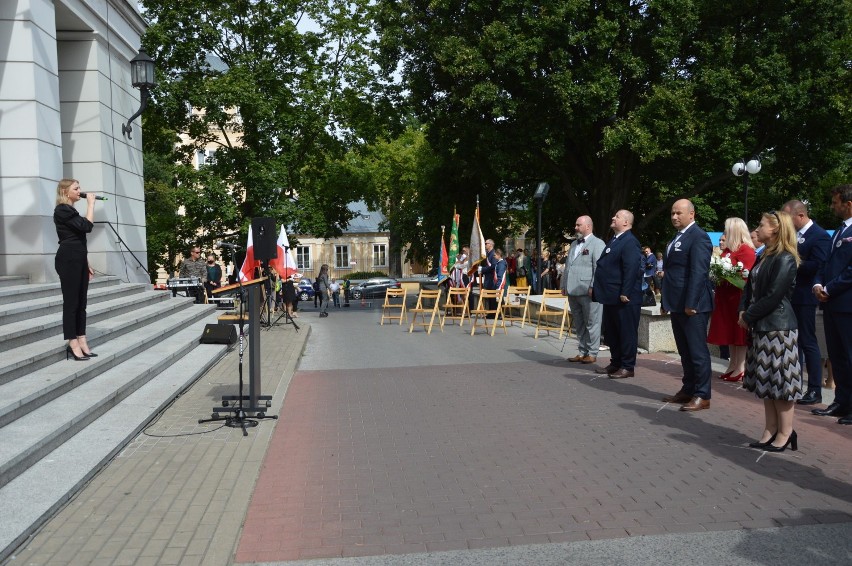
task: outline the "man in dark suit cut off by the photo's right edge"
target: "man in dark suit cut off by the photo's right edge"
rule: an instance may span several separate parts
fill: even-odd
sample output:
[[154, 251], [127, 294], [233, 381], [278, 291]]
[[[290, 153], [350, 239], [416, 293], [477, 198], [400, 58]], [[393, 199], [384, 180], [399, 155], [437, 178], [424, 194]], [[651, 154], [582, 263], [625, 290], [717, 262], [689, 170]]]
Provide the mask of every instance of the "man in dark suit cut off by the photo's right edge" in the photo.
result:
[[852, 185], [834, 188], [831, 209], [843, 224], [834, 233], [828, 258], [814, 278], [813, 293], [824, 311], [825, 343], [834, 372], [834, 403], [811, 412], [840, 417], [840, 424], [852, 424]]

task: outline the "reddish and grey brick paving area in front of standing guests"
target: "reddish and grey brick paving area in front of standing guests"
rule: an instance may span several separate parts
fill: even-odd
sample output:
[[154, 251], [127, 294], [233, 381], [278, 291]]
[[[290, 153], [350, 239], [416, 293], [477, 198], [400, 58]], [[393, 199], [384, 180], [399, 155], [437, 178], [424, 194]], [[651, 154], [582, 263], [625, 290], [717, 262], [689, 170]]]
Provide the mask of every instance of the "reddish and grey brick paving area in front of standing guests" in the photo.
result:
[[297, 372], [237, 562], [852, 521], [852, 427], [799, 410], [799, 451], [763, 454], [745, 446], [761, 402], [735, 385], [709, 411], [664, 406], [679, 370]]

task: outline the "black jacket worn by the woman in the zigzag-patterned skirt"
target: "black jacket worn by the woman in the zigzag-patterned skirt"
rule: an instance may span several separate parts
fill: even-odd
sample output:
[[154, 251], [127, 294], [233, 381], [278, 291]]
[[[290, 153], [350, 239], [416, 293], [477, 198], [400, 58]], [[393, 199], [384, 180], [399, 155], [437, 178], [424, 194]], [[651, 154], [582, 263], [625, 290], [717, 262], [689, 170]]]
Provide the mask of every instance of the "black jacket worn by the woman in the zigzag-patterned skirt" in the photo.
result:
[[[760, 257], [740, 300], [743, 320], [758, 332], [798, 328], [790, 298], [796, 285], [796, 260], [790, 252]], [[754, 302], [752, 302], [752, 298]]]

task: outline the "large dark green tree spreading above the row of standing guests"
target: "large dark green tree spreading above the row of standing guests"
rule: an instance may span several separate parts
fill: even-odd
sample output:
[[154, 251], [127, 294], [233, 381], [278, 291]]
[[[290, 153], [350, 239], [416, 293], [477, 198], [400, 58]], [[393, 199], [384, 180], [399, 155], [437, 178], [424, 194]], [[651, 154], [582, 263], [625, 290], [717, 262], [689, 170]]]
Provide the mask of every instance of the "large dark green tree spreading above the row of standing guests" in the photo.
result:
[[378, 4], [381, 62], [400, 69], [454, 196], [487, 191], [506, 210], [548, 181], [550, 240], [578, 214], [602, 233], [630, 208], [662, 241], [683, 196], [718, 228], [742, 215], [741, 156], [764, 160], [752, 221], [849, 170], [849, 0]]

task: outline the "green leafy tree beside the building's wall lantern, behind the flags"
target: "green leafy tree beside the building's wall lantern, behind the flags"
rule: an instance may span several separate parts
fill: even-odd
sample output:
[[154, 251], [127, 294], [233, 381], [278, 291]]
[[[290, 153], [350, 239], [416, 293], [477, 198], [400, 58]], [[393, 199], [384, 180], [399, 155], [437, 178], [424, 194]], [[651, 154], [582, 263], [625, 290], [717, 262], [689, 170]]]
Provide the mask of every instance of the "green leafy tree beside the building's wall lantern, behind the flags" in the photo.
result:
[[198, 171], [173, 171], [173, 188], [191, 187], [178, 198], [187, 221], [245, 234], [252, 217], [272, 216], [298, 232], [339, 234], [356, 196], [335, 176], [339, 161], [392, 108], [369, 96], [383, 92], [369, 68], [369, 2], [142, 5], [153, 22], [143, 44], [158, 68], [153, 112], [183, 136], [184, 164], [216, 147]]

